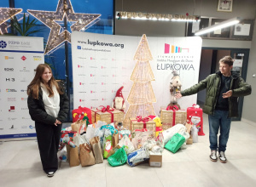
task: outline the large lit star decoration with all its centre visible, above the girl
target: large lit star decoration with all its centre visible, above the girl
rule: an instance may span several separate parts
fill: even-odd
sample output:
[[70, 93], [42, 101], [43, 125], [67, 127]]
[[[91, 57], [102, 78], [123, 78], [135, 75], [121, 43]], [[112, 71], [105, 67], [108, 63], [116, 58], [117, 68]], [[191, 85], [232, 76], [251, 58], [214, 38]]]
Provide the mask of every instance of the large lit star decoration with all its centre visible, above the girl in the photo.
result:
[[59, 0], [55, 12], [40, 10], [27, 10], [27, 12], [43, 22], [44, 25], [48, 26], [50, 29], [44, 54], [48, 54], [61, 45], [62, 42], [71, 42], [70, 32], [67, 31], [67, 28], [61, 31], [61, 26], [56, 21], [62, 21], [66, 16], [68, 21], [74, 22], [74, 24], [70, 26], [71, 31], [81, 31], [82, 29], [86, 30], [96, 24], [101, 16], [101, 14], [74, 13], [70, 0]]

